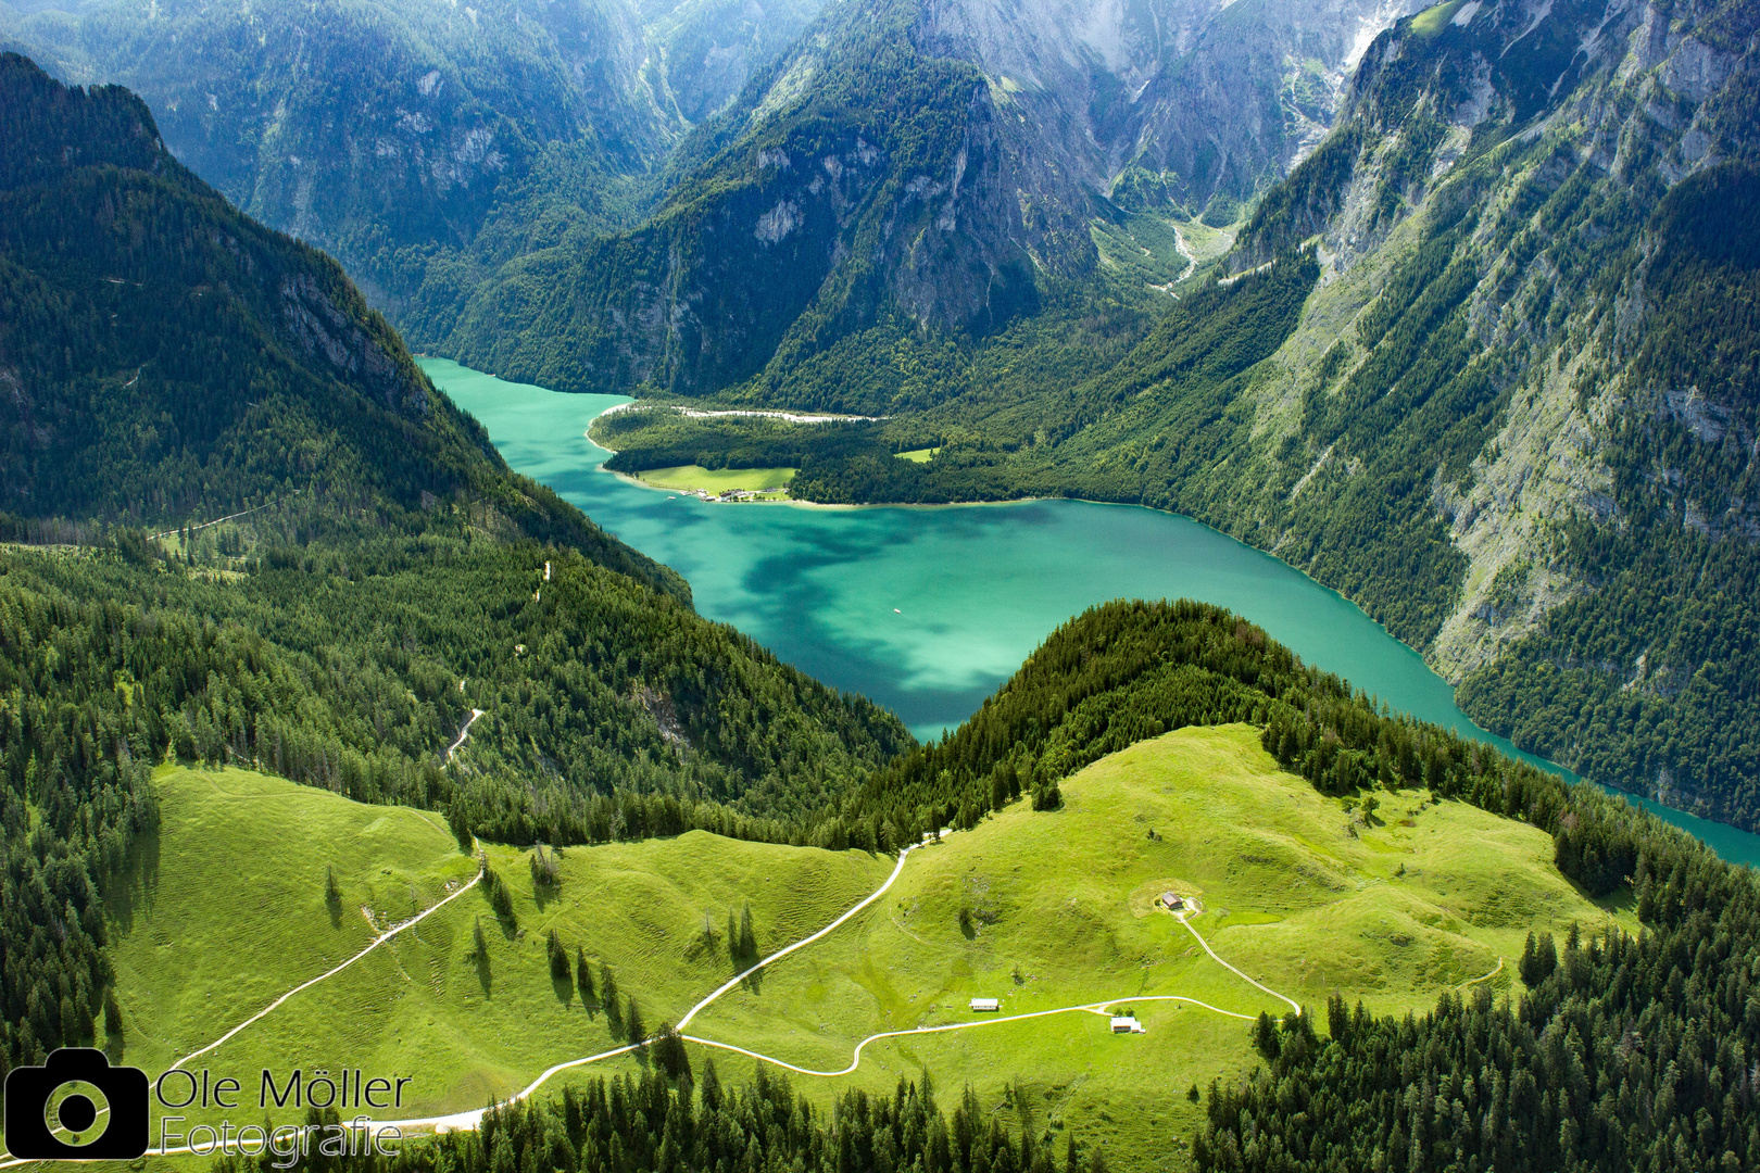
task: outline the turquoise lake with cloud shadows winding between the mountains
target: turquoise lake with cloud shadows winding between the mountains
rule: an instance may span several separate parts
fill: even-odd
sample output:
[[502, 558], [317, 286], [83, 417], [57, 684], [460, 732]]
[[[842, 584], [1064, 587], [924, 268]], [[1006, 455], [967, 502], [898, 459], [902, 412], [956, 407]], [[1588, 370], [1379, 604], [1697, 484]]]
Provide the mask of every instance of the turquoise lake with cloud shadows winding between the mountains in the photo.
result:
[[[1448, 682], [1355, 603], [1177, 514], [1089, 501], [810, 508], [709, 505], [607, 473], [588, 424], [623, 396], [510, 383], [447, 359], [422, 369], [517, 471], [690, 580], [697, 610], [919, 739], [964, 721], [1058, 624], [1112, 598], [1228, 607], [1394, 709], [1558, 770], [1473, 725]], [[1628, 795], [1630, 797], [1630, 795]], [[1727, 860], [1760, 835], [1637, 800]]]

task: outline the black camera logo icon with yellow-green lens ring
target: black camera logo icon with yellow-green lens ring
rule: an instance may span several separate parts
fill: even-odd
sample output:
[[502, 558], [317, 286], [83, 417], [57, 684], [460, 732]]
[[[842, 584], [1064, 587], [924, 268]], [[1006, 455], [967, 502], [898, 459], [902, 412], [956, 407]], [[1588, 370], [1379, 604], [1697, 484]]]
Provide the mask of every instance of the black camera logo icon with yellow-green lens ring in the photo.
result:
[[146, 1073], [63, 1046], [5, 1076], [5, 1145], [26, 1161], [134, 1161], [146, 1152]]

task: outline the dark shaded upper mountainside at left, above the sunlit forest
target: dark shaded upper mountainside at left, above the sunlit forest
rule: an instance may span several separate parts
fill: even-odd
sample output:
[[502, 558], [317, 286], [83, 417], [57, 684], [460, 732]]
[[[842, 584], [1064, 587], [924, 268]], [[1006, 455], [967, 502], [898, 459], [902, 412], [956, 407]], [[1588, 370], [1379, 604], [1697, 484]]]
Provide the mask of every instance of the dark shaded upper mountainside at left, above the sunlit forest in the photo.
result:
[[327, 503], [472, 508], [688, 598], [676, 573], [510, 473], [322, 253], [185, 171], [127, 90], [0, 56], [0, 510], [130, 524]]

